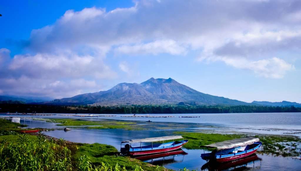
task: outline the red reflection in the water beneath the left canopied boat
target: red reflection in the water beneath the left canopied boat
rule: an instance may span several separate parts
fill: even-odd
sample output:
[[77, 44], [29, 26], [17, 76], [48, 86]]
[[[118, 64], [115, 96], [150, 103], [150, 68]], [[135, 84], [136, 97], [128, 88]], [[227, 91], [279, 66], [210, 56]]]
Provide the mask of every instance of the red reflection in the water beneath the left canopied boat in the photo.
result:
[[164, 164], [182, 162], [186, 154], [188, 153], [186, 153], [183, 150], [177, 150], [177, 151], [171, 151], [167, 153], [139, 156], [135, 158], [146, 163], [151, 163], [153, 165], [164, 165]]

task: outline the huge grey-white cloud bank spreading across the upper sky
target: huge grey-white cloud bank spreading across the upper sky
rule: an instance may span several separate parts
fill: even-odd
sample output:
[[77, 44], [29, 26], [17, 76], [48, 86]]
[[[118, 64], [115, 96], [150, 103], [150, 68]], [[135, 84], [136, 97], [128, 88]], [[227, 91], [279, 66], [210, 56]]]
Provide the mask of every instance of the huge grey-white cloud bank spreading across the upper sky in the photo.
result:
[[268, 60], [272, 56], [266, 54], [275, 51], [300, 50], [299, 7], [294, 0], [165, 0], [137, 1], [131, 8], [108, 12], [95, 7], [69, 10], [53, 25], [33, 30], [30, 48], [88, 46], [105, 54], [113, 47], [129, 55], [179, 55], [201, 49], [200, 56]]

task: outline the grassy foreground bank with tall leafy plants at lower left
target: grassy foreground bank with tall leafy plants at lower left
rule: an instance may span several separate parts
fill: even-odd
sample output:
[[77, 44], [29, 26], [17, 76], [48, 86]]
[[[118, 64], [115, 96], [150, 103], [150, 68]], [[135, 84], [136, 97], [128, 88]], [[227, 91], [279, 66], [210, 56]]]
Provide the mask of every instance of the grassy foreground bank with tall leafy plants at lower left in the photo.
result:
[[[117, 149], [103, 144], [81, 144], [45, 135], [20, 133], [20, 124], [0, 119], [0, 170], [163, 171], [130, 157], [117, 157]], [[5, 129], [4, 129], [5, 128]]]

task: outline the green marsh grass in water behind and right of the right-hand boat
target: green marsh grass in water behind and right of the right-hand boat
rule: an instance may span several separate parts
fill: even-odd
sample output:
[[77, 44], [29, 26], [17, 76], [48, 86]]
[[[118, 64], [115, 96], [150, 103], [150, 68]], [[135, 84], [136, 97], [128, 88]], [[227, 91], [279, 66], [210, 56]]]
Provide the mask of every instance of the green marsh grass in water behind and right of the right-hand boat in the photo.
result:
[[[184, 145], [187, 149], [200, 149], [201, 145], [208, 145], [216, 142], [246, 137], [245, 134], [206, 134], [200, 132], [174, 132], [182, 135], [189, 142]], [[301, 139], [295, 136], [281, 135], [259, 135], [256, 136], [262, 142], [259, 154], [297, 157], [301, 152]]]

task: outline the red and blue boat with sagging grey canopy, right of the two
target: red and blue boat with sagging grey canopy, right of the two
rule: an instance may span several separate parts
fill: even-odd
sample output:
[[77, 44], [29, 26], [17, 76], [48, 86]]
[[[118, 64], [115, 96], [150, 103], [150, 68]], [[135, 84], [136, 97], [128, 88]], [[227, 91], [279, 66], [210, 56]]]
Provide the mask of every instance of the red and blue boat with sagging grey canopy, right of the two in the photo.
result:
[[254, 154], [262, 145], [259, 138], [245, 137], [230, 141], [222, 141], [201, 147], [216, 148], [211, 153], [201, 154], [203, 160], [213, 160], [216, 162], [228, 162], [241, 159]]

